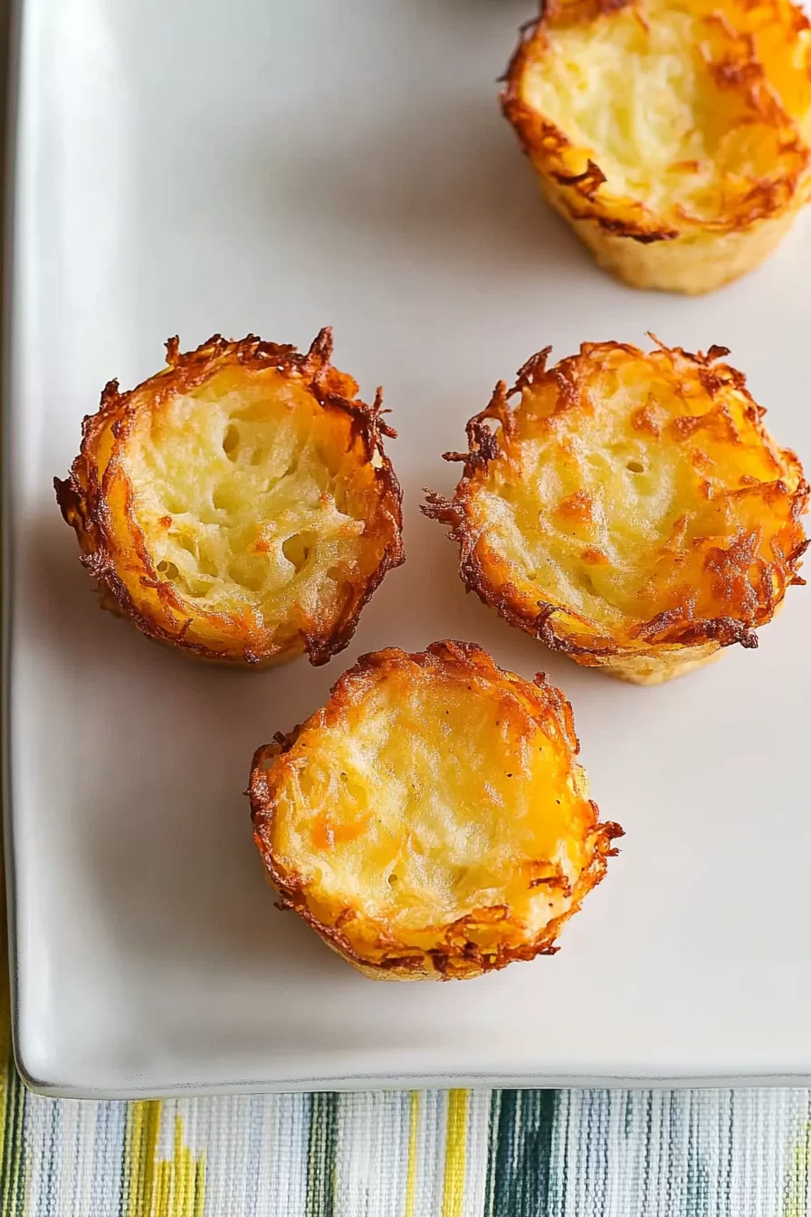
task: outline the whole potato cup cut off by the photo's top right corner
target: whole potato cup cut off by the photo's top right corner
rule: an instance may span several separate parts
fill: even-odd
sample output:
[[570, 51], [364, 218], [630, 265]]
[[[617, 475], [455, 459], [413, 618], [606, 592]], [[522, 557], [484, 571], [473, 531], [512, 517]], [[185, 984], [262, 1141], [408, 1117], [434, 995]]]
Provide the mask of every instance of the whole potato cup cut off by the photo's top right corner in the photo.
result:
[[636, 287], [737, 277], [807, 197], [811, 27], [789, 0], [548, 0], [501, 102], [552, 206]]

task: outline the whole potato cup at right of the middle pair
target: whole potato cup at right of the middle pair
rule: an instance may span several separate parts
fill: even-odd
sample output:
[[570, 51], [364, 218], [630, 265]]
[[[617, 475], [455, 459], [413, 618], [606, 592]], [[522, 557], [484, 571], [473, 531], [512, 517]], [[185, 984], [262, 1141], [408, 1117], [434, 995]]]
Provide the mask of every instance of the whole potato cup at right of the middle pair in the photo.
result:
[[550, 350], [496, 385], [468, 450], [445, 453], [463, 464], [454, 498], [422, 509], [450, 526], [467, 589], [640, 684], [756, 646], [805, 582], [809, 486], [727, 349], [584, 343], [547, 370]]

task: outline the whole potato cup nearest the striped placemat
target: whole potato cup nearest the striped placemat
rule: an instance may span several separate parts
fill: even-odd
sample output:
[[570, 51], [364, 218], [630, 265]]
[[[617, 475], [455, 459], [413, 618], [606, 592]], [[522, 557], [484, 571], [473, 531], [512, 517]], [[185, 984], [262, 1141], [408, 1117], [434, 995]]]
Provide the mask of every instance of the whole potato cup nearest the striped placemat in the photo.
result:
[[364, 655], [253, 758], [278, 907], [374, 980], [553, 953], [621, 835], [598, 823], [578, 750], [563, 694], [474, 644]]

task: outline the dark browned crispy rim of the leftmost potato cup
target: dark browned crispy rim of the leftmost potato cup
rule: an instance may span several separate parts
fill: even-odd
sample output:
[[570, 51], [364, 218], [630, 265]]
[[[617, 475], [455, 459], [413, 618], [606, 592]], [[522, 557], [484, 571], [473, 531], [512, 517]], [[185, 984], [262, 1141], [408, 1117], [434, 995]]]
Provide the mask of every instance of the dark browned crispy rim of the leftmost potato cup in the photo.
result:
[[[227, 341], [215, 333], [196, 350], [182, 354], [176, 337], [167, 342], [168, 366], [151, 376], [126, 393], [120, 393], [118, 381], [109, 381], [101, 394], [101, 404], [96, 414], [84, 419], [81, 428], [81, 447], [71, 472], [64, 481], [53, 479], [56, 498], [62, 515], [79, 538], [80, 560], [102, 593], [106, 607], [119, 611], [148, 638], [170, 643], [199, 658], [232, 661], [258, 664], [285, 654], [288, 646], [258, 647], [250, 636], [236, 639], [238, 654], [225, 649], [207, 647], [191, 641], [186, 632], [191, 621], [207, 619], [221, 624], [223, 615], [202, 611], [197, 605], [190, 606], [186, 598], [179, 595], [171, 583], [162, 579], [154, 568], [146, 538], [135, 517], [133, 493], [126, 484], [126, 518], [131, 540], [143, 566], [142, 582], [154, 588], [162, 607], [171, 616], [174, 629], [168, 629], [160, 622], [145, 616], [134, 604], [130, 593], [122, 581], [117, 560], [119, 548], [114, 531], [111, 527], [109, 507], [106, 501], [108, 487], [116, 473], [123, 473], [120, 450], [126, 443], [134, 415], [145, 408], [154, 409], [174, 397], [188, 393], [227, 368], [241, 368], [249, 371], [275, 369], [282, 376], [294, 376], [300, 387], [311, 394], [325, 411], [340, 411], [351, 420], [351, 439], [360, 439], [365, 460], [374, 461], [374, 479], [379, 488], [376, 516], [367, 521], [370, 532], [382, 529], [388, 533], [382, 560], [372, 574], [362, 584], [354, 584], [354, 595], [349, 599], [339, 617], [325, 633], [300, 632], [303, 650], [314, 664], [326, 663], [333, 655], [343, 650], [351, 639], [357, 618], [364, 605], [378, 587], [387, 571], [405, 561], [402, 548], [402, 494], [392, 462], [383, 450], [383, 436], [396, 438], [394, 431], [383, 421], [388, 411], [383, 409], [383, 391], [378, 388], [371, 405], [355, 397], [355, 381], [333, 368], [332, 329], [325, 327], [314, 340], [306, 354], [300, 354], [295, 347], [280, 346], [275, 342], [263, 342], [255, 335], [248, 335], [238, 341]], [[106, 434], [112, 434], [112, 450], [105, 465], [103, 475], [98, 476], [98, 448]], [[111, 600], [112, 598], [112, 600]], [[236, 634], [236, 632], [235, 632]]]

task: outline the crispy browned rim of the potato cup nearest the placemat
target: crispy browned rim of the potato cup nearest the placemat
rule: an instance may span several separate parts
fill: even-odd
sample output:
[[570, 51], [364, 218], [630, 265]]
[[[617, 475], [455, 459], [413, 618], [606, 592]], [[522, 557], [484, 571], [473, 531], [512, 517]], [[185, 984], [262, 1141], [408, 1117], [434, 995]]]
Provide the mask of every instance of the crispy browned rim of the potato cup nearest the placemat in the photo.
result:
[[[580, 751], [580, 742], [574, 730], [571, 706], [544, 673], [539, 673], [534, 682], [524, 680], [516, 673], [500, 668], [492, 657], [474, 643], [452, 640], [432, 643], [426, 651], [413, 655], [401, 651], [399, 647], [361, 655], [356, 664], [344, 672], [333, 685], [330, 701], [322, 710], [316, 711], [306, 723], [295, 727], [289, 734], [277, 733], [272, 744], [263, 745], [254, 753], [248, 785], [254, 841], [265, 864], [267, 877], [280, 893], [276, 907], [293, 909], [338, 954], [361, 969], [392, 974], [399, 978], [427, 977], [432, 974], [439, 974], [441, 980], [463, 978], [496, 971], [514, 960], [529, 960], [536, 955], [554, 954], [559, 949], [554, 944], [554, 940], [562, 925], [579, 910], [587, 892], [603, 879], [608, 858], [618, 852], [613, 841], [624, 835], [619, 824], [599, 823], [599, 809], [593, 800], [584, 798], [593, 815], [592, 824], [586, 830], [587, 836], [593, 842], [593, 853], [588, 865], [581, 870], [571, 890], [571, 905], [563, 915], [548, 921], [537, 937], [531, 941], [516, 946], [499, 943], [494, 952], [483, 952], [477, 943], [471, 942], [468, 930], [472, 925], [479, 925], [488, 920], [503, 920], [509, 913], [506, 905], [478, 910], [477, 914], [467, 914], [451, 922], [444, 933], [445, 946], [427, 952], [399, 943], [384, 927], [381, 927], [381, 936], [387, 940], [382, 957], [371, 959], [360, 955], [343, 932], [343, 925], [350, 916], [355, 915], [355, 910], [348, 905], [344, 913], [337, 916], [333, 925], [325, 924], [308, 905], [308, 885], [304, 876], [283, 868], [276, 858], [272, 847], [272, 829], [277, 808], [277, 790], [285, 775], [283, 758], [286, 755], [303, 731], [339, 720], [348, 707], [353, 705], [351, 692], [357, 686], [362, 689], [364, 685], [371, 686], [379, 679], [381, 673], [395, 671], [406, 663], [416, 663], [423, 669], [435, 669], [439, 663], [449, 672], [461, 673], [463, 677], [484, 675], [494, 683], [494, 696], [499, 685], [508, 688], [511, 696], [518, 696], [522, 700], [524, 708], [529, 711], [539, 729], [554, 736], [559, 746], [568, 751], [573, 767], [580, 769], [575, 761]], [[537, 882], [544, 882], [547, 888], [553, 886], [569, 887], [562, 871], [550, 879], [537, 880]]]

